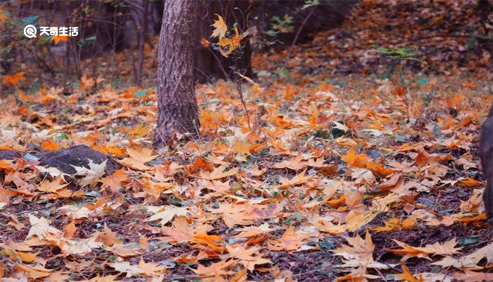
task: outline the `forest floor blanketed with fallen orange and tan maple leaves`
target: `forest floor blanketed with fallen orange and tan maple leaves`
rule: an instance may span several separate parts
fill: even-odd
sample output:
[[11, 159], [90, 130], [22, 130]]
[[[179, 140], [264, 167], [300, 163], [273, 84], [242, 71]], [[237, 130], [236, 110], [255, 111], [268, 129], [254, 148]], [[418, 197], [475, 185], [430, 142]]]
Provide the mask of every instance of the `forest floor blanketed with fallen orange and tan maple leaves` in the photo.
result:
[[[363, 33], [350, 19], [285, 67], [286, 50], [254, 54], [248, 115], [234, 83], [197, 85], [201, 136], [170, 148], [151, 146], [151, 80], [94, 90], [85, 75], [70, 92], [4, 97], [0, 149], [22, 157], [0, 160], [0, 277], [493, 281], [477, 146], [491, 56], [428, 40], [401, 80]], [[474, 59], [447, 55], [458, 50]], [[73, 145], [119, 168], [67, 175], [36, 157]]]

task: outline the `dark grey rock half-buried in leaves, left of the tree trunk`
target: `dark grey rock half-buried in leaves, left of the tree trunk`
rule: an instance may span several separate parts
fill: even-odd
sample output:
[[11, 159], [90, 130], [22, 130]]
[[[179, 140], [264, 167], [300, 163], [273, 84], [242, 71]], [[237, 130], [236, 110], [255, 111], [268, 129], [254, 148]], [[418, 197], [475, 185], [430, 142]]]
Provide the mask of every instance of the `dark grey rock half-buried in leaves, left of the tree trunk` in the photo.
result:
[[86, 145], [44, 152], [39, 159], [42, 166], [55, 167], [67, 174], [75, 174], [77, 172], [73, 166], [89, 168], [89, 159], [95, 164], [101, 164], [106, 160], [106, 171], [110, 174], [120, 168], [120, 165], [106, 156], [106, 154], [94, 151], [94, 149]]

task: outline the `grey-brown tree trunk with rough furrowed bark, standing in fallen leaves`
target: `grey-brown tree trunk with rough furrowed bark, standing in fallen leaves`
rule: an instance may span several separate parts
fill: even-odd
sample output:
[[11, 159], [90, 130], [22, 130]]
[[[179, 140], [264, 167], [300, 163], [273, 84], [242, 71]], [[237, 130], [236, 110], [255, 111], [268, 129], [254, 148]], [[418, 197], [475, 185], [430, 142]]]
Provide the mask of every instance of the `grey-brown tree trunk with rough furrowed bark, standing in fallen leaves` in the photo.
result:
[[199, 134], [194, 90], [195, 0], [165, 1], [158, 49], [158, 123], [154, 145], [168, 144], [174, 134]]

